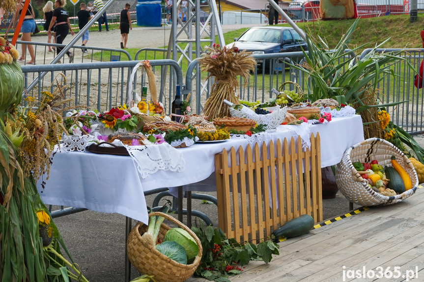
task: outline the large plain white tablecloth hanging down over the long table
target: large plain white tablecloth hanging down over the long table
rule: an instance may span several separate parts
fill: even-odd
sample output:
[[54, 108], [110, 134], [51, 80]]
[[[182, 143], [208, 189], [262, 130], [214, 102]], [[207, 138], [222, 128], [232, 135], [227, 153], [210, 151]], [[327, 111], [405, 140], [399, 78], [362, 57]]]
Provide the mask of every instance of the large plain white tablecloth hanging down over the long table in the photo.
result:
[[[326, 125], [312, 125], [311, 132], [314, 135], [319, 132], [321, 138], [321, 167], [339, 163], [348, 147], [364, 140], [359, 115], [333, 118]], [[284, 138], [291, 138], [291, 133], [272, 132], [270, 138], [274, 142], [278, 139], [283, 142]], [[178, 149], [186, 161], [183, 172], [158, 171], [145, 179], [141, 178], [129, 156], [58, 152], [53, 158], [50, 179], [44, 189], [40, 184], [38, 189], [46, 204], [117, 212], [147, 224], [145, 191], [208, 179], [215, 171], [215, 154], [221, 153], [224, 148], [229, 151], [233, 146], [246, 148], [248, 144], [247, 139], [239, 139]], [[204, 189], [200, 186], [198, 190]]]

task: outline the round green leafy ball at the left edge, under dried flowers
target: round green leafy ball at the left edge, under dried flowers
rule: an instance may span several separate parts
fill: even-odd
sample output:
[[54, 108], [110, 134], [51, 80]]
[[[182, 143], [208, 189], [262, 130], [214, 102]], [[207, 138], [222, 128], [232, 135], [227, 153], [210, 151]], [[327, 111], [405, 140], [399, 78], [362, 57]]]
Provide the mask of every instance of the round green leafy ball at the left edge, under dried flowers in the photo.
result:
[[0, 110], [7, 110], [11, 105], [21, 103], [24, 91], [24, 74], [21, 66], [13, 61], [12, 64], [0, 64]]

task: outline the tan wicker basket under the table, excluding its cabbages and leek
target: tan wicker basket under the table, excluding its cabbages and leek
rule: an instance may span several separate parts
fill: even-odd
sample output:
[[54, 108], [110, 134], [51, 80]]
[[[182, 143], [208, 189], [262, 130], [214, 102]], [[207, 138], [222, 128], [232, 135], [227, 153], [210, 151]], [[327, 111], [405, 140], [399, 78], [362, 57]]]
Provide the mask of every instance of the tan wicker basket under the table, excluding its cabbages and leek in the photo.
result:
[[[152, 275], [156, 282], [182, 282], [193, 275], [202, 256], [202, 245], [196, 234], [191, 231], [187, 226], [176, 220], [172, 216], [162, 212], [149, 213], [149, 217], [153, 215], [163, 216], [169, 221], [176, 224], [178, 227], [189, 232], [198, 244], [199, 251], [192, 264], [181, 264], [175, 260], [170, 259], [168, 256], [159, 253], [155, 246], [144, 245], [141, 243], [141, 235], [147, 231], [145, 224], [136, 225], [130, 232], [127, 240], [128, 258], [134, 267], [142, 274]], [[158, 238], [163, 239], [165, 233], [170, 230], [166, 224], [161, 225]]]

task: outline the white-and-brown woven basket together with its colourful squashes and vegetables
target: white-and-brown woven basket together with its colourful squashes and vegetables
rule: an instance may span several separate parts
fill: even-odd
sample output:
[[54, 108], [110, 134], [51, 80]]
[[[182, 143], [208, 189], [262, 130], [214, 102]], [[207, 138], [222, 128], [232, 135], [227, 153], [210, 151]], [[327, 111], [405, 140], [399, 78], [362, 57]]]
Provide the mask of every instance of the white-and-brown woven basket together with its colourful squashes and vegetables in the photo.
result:
[[390, 205], [413, 195], [418, 177], [398, 148], [386, 140], [370, 138], [344, 152], [336, 167], [336, 183], [352, 203]]

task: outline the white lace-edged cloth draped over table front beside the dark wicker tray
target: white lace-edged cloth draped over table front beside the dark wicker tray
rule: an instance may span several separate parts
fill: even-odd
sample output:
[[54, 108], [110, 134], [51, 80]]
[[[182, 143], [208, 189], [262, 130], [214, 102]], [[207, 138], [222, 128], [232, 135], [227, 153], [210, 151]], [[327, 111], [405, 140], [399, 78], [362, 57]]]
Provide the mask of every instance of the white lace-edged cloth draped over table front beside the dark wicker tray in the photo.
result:
[[185, 170], [186, 162], [183, 154], [168, 143], [152, 146], [124, 146], [137, 164], [141, 178], [146, 178], [158, 170], [177, 172]]

